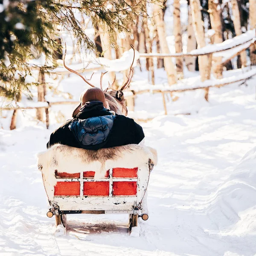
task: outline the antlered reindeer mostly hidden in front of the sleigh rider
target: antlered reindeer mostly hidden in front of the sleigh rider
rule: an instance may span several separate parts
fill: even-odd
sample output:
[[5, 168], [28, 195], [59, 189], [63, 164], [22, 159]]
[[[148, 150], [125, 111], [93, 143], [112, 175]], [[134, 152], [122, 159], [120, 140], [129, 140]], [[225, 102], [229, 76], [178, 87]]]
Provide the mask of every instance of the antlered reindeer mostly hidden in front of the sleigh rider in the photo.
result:
[[[108, 82], [108, 87], [107, 87], [107, 89], [104, 90], [106, 102], [108, 102], [110, 110], [114, 111], [116, 114], [125, 115], [125, 116], [127, 116], [128, 111], [127, 111], [127, 107], [126, 107], [126, 101], [125, 101], [125, 96], [124, 96], [123, 90], [125, 90], [126, 88], [129, 87], [129, 85], [131, 83], [131, 79], [132, 79], [133, 74], [134, 74], [132, 66], [134, 64], [135, 49], [134, 49], [134, 46], [132, 44], [131, 44], [131, 48], [134, 50], [134, 57], [133, 57], [133, 61], [132, 61], [131, 66], [130, 66], [129, 75], [126, 76], [127, 80], [124, 82], [124, 84], [122, 85], [120, 90], [113, 90], [113, 85], [116, 81], [116, 76], [115, 76], [115, 79], [114, 79], [113, 83], [110, 84]], [[72, 70], [72, 69], [70, 69], [69, 67], [66, 66], [66, 64], [65, 64], [66, 49], [65, 49], [65, 54], [64, 54], [64, 58], [63, 58], [64, 67], [67, 70], [69, 70], [70, 72], [75, 73], [76, 75], [80, 76], [90, 86], [95, 87], [93, 84], [90, 83], [90, 79], [92, 78], [94, 73], [92, 74], [90, 79], [86, 79], [82, 75], [80, 75], [78, 72], [76, 72], [75, 70]], [[102, 89], [102, 79], [103, 79], [103, 76], [106, 73], [108, 73], [108, 71], [105, 72], [105, 73], [103, 73], [103, 72], [101, 73], [101, 77], [100, 77], [100, 87], [101, 87], [101, 89]], [[108, 89], [111, 89], [111, 90], [108, 91]], [[76, 114], [73, 113], [73, 117], [75, 117], [75, 116], [76, 116]]]

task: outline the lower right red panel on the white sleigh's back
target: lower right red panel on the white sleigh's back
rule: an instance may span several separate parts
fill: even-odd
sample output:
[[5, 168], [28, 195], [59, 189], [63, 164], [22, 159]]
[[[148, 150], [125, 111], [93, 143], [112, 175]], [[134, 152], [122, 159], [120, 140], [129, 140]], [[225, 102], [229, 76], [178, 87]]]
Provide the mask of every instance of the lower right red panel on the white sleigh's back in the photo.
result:
[[113, 181], [113, 196], [137, 195], [136, 181]]

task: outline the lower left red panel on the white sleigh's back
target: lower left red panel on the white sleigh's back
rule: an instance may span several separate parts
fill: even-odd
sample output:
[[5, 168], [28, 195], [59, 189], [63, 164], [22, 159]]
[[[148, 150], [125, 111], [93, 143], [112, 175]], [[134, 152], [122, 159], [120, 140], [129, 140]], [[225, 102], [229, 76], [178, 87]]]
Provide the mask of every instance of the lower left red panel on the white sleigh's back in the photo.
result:
[[54, 187], [54, 195], [80, 195], [80, 182], [58, 181]]

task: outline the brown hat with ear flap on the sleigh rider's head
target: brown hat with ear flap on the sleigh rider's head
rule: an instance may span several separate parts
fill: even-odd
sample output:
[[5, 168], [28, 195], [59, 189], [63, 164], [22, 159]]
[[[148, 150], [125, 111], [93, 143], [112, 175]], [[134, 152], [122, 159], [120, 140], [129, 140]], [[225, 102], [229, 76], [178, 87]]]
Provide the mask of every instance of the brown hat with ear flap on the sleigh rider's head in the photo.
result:
[[101, 101], [104, 108], [107, 107], [104, 91], [98, 87], [89, 88], [86, 91], [83, 91], [80, 95], [80, 104], [73, 110], [73, 117], [79, 113], [80, 108], [85, 105], [86, 102], [90, 101]]

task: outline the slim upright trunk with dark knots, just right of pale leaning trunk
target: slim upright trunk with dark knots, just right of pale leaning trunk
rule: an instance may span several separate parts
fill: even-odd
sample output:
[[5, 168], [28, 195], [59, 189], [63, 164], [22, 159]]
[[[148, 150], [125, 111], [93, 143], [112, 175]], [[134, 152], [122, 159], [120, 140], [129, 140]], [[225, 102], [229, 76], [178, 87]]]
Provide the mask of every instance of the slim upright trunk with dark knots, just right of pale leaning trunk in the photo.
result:
[[[182, 52], [182, 32], [180, 24], [180, 0], [173, 3], [173, 33], [175, 38], [175, 52]], [[177, 78], [183, 79], [183, 58], [176, 58]]]

